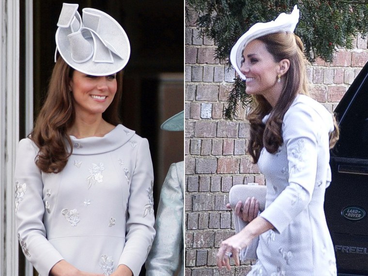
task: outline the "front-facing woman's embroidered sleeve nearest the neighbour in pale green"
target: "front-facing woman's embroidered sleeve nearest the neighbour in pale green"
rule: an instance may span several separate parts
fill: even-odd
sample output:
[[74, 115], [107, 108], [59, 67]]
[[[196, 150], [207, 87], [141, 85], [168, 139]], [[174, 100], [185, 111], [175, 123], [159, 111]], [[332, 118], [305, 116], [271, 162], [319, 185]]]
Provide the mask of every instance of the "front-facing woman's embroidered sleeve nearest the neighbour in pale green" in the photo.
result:
[[130, 184], [126, 244], [119, 264], [128, 266], [138, 276], [154, 239], [153, 167], [147, 139], [137, 145], [136, 166]]

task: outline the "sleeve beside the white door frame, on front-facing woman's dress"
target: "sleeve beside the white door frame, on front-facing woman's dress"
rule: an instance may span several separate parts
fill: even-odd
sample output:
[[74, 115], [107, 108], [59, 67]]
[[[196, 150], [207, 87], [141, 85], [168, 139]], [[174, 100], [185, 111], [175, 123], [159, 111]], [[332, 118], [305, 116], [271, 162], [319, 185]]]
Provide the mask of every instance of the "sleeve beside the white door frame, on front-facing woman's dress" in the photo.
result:
[[63, 258], [46, 239], [42, 175], [35, 164], [37, 152], [31, 139], [19, 142], [15, 164], [15, 217], [24, 255], [40, 275], [46, 276]]

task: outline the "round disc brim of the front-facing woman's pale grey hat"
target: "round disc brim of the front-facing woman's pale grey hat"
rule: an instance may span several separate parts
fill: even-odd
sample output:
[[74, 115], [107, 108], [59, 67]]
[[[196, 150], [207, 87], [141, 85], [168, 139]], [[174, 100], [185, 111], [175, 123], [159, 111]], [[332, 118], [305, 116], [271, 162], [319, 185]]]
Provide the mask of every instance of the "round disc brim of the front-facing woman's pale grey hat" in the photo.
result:
[[[72, 49], [68, 39], [68, 35], [73, 32], [70, 28], [59, 27], [56, 31], [55, 39], [61, 58], [72, 68], [88, 75], [107, 76], [119, 72], [125, 67], [130, 57], [130, 44], [125, 31], [114, 18], [102, 11], [85, 8], [83, 9], [83, 13], [89, 13], [99, 17], [96, 35], [92, 35], [85, 40], [93, 47], [93, 51], [99, 50], [95, 48], [96, 45], [97, 47], [107, 45], [109, 48], [112, 48], [113, 51], [110, 51], [111, 61], [98, 61], [93, 56], [87, 61], [76, 62], [73, 59]], [[84, 29], [88, 30], [88, 28]]]

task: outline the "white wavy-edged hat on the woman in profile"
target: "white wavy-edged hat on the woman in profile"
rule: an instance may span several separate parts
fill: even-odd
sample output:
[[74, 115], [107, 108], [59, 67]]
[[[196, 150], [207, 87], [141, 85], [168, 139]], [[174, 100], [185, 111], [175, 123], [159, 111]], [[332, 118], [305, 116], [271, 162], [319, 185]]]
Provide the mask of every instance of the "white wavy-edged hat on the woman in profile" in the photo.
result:
[[244, 74], [240, 71], [242, 66], [243, 50], [252, 40], [270, 33], [281, 31], [294, 32], [296, 24], [299, 22], [299, 9], [295, 5], [291, 14], [282, 13], [275, 20], [270, 22], [259, 22], [249, 28], [235, 43], [230, 52], [230, 62], [239, 77], [245, 80]]

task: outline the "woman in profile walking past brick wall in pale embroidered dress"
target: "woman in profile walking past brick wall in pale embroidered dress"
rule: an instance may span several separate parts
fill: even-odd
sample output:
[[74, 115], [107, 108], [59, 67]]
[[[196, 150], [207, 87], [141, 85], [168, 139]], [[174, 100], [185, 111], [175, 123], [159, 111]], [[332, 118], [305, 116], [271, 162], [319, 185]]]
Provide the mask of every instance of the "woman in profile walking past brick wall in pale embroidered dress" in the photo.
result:
[[236, 204], [235, 214], [249, 223], [221, 243], [219, 268], [230, 269], [231, 257], [239, 265], [252, 247], [258, 261], [248, 275], [337, 274], [323, 202], [338, 130], [332, 114], [308, 96], [303, 44], [293, 34], [298, 19], [295, 6], [291, 15], [257, 23], [231, 51], [253, 97], [248, 152], [265, 176], [267, 195], [258, 216], [256, 199]]

